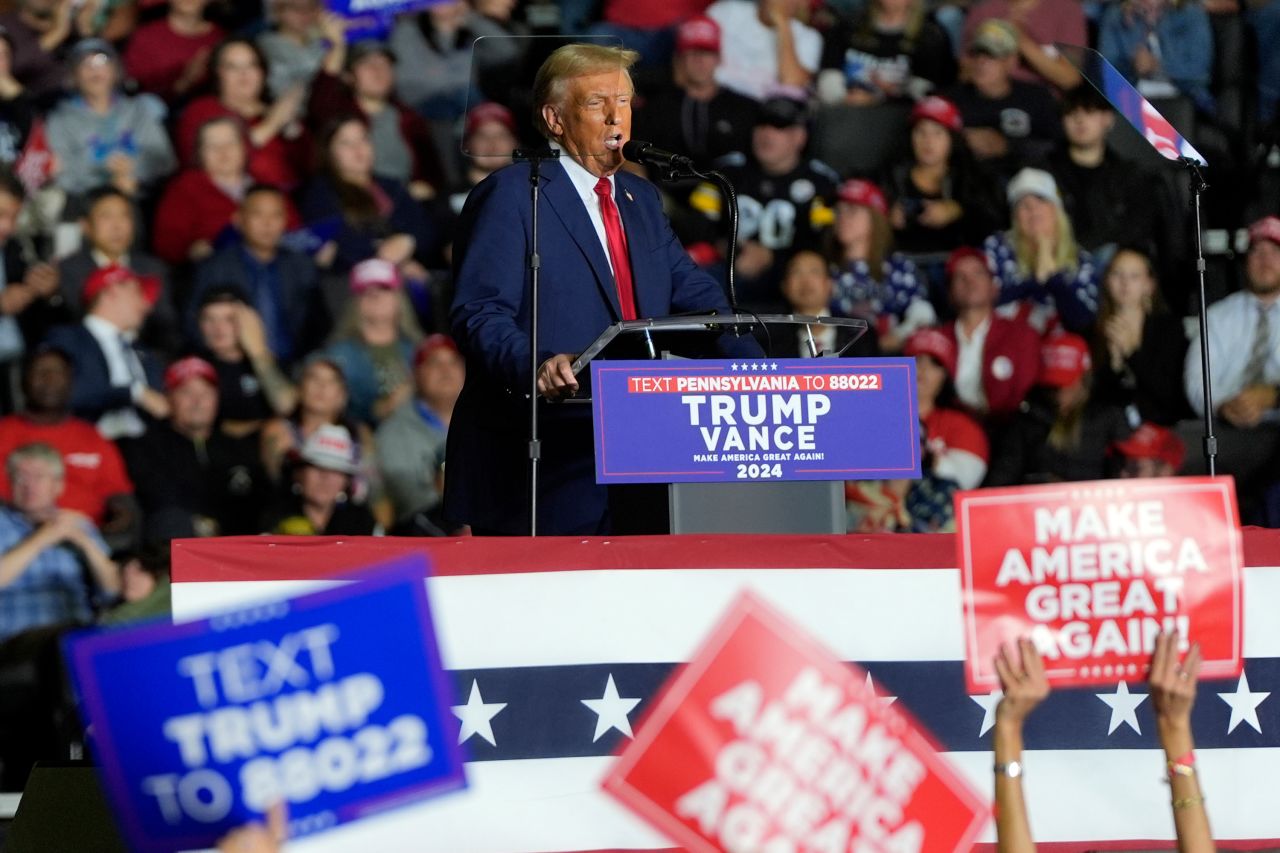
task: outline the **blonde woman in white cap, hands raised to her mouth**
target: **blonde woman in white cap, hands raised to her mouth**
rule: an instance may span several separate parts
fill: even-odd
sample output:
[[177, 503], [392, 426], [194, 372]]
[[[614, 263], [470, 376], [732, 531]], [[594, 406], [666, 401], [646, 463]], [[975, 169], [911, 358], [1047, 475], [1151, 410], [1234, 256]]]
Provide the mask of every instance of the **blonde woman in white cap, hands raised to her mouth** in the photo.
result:
[[1039, 332], [1061, 325], [1088, 333], [1098, 313], [1093, 256], [1075, 242], [1053, 175], [1023, 169], [1009, 182], [1012, 228], [987, 237], [983, 248], [1000, 282], [1001, 310]]

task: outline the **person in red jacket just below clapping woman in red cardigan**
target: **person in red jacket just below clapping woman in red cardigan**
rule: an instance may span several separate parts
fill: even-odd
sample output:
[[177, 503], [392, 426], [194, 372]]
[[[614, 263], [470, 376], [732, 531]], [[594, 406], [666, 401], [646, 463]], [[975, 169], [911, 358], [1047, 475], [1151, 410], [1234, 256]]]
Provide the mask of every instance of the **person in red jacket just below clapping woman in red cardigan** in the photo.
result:
[[[155, 254], [170, 264], [209, 257], [253, 183], [239, 119], [211, 119], [200, 128], [196, 140], [198, 168], [170, 181], [156, 209]], [[291, 229], [301, 222], [292, 204], [288, 222]]]

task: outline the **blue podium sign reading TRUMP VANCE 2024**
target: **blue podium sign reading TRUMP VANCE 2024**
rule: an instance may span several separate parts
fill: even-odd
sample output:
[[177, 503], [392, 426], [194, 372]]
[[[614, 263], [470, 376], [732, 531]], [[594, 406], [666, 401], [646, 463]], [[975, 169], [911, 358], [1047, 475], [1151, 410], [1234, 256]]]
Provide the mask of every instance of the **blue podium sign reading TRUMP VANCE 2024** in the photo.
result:
[[914, 359], [596, 361], [598, 483], [920, 476]]

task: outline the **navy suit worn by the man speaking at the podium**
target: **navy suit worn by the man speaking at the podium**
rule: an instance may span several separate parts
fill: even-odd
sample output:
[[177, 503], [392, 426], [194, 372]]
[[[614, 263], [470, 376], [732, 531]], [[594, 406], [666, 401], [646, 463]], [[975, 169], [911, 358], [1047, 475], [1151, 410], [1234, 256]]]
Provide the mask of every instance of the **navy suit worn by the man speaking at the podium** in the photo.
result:
[[[719, 283], [676, 240], [658, 191], [616, 177], [640, 316], [728, 311]], [[543, 167], [539, 364], [581, 352], [622, 319], [617, 289], [586, 206], [559, 163]], [[444, 508], [492, 532], [529, 532], [530, 383], [529, 165], [507, 167], [471, 191], [454, 241], [453, 333], [467, 379], [449, 423]], [[590, 406], [550, 403], [540, 421], [540, 533], [607, 533], [607, 492], [595, 484]]]

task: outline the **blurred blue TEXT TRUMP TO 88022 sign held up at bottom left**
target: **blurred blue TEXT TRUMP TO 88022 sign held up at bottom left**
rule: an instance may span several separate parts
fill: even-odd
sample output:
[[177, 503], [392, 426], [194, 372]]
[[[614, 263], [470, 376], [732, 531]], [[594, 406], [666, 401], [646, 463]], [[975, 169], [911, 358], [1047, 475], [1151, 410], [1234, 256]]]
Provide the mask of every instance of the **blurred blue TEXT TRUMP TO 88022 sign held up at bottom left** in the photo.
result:
[[131, 849], [212, 847], [278, 800], [297, 836], [465, 786], [425, 576], [404, 557], [302, 598], [68, 638]]

